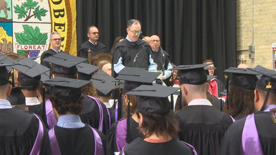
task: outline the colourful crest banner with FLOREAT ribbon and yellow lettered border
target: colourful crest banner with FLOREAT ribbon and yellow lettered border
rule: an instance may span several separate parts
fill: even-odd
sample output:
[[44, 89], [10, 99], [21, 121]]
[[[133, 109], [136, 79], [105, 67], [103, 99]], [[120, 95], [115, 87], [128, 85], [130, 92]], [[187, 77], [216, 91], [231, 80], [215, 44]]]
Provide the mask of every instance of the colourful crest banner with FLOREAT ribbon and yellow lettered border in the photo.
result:
[[[76, 0], [0, 0], [0, 50], [29, 57], [50, 47], [51, 32], [59, 32], [61, 49], [76, 55]], [[40, 58], [37, 60], [40, 62]]]

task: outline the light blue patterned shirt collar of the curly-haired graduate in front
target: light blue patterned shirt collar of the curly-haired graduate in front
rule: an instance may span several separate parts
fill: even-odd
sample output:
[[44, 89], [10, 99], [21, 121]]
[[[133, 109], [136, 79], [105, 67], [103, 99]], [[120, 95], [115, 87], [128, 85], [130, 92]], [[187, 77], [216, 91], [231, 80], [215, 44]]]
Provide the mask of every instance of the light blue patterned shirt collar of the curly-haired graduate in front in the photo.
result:
[[57, 126], [64, 128], [78, 128], [84, 127], [85, 124], [81, 122], [79, 115], [62, 115], [57, 120]]

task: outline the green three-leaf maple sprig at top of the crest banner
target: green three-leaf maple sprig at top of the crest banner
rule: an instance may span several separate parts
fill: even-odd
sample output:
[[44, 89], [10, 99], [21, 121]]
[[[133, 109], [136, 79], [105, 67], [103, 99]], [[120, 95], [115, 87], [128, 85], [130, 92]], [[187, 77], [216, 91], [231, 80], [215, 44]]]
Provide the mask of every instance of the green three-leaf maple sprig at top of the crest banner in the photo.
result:
[[[16, 6], [14, 6], [14, 9], [15, 9], [14, 12], [18, 13], [18, 19], [26, 17], [26, 19], [24, 20], [25, 22], [28, 21], [32, 16], [34, 16], [34, 18], [37, 18], [38, 20], [41, 21], [41, 16], [45, 16], [46, 15], [45, 13], [48, 10], [46, 10], [44, 8], [39, 9], [39, 6], [37, 6], [37, 4], [38, 4], [38, 2], [36, 2], [36, 1], [26, 0], [25, 3], [21, 4], [21, 7], [18, 4]], [[34, 9], [34, 11], [32, 11], [33, 14], [31, 15], [32, 9]], [[29, 14], [27, 15], [28, 11], [29, 11]]]

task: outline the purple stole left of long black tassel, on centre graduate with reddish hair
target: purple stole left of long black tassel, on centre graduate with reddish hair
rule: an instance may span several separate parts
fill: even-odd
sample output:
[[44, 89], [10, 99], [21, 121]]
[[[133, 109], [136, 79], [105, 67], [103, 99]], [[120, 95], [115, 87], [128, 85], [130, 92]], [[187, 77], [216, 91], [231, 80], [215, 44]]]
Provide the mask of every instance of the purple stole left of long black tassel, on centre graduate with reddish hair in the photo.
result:
[[123, 147], [127, 146], [127, 119], [122, 119], [116, 126], [116, 146], [117, 151], [120, 152]]

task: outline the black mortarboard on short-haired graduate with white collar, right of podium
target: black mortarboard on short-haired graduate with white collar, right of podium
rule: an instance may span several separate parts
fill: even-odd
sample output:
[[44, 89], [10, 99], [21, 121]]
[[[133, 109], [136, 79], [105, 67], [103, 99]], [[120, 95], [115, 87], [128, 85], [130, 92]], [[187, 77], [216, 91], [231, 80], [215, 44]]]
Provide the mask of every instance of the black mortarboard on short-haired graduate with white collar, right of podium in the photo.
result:
[[197, 65], [180, 65], [169, 70], [179, 70], [180, 84], [201, 85], [206, 83], [207, 80], [207, 73], [204, 70], [204, 67], [211, 64], [212, 63]]

